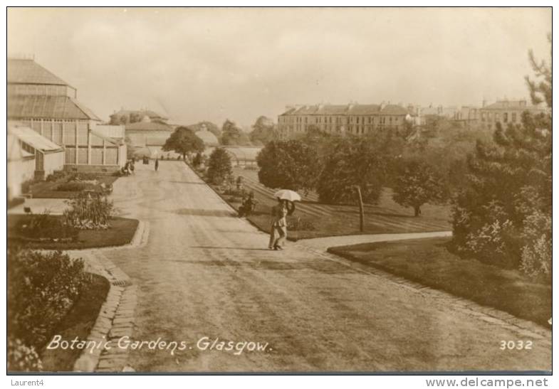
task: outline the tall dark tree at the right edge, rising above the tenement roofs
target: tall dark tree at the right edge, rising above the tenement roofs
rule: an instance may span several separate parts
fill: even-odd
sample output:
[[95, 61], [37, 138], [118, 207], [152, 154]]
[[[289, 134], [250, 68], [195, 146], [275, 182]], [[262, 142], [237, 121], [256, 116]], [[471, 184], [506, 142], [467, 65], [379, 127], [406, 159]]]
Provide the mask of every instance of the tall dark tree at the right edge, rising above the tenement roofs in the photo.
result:
[[[530, 55], [533, 103], [551, 104], [547, 63]], [[493, 143], [478, 142], [469, 180], [453, 207], [454, 245], [495, 265], [550, 277], [551, 115], [522, 114], [522, 123], [497, 125]]]

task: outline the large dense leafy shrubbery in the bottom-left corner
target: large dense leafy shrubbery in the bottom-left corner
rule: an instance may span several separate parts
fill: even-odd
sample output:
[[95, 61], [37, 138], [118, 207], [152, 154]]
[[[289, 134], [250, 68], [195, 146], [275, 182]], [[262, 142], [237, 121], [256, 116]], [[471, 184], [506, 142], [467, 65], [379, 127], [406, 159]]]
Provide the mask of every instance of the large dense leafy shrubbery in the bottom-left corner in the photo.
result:
[[9, 247], [10, 336], [20, 339], [23, 345], [41, 349], [78, 299], [85, 282], [81, 259], [73, 260], [60, 251], [44, 253]]

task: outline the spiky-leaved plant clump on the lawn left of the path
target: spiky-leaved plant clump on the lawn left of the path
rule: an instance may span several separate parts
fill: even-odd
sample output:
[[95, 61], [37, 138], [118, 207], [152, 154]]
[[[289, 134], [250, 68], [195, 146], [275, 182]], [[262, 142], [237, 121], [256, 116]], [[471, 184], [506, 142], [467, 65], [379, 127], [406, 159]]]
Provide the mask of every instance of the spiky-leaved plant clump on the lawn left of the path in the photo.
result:
[[107, 196], [80, 192], [78, 196], [66, 203], [70, 206], [63, 213], [66, 225], [80, 230], [100, 230], [109, 227], [114, 205]]

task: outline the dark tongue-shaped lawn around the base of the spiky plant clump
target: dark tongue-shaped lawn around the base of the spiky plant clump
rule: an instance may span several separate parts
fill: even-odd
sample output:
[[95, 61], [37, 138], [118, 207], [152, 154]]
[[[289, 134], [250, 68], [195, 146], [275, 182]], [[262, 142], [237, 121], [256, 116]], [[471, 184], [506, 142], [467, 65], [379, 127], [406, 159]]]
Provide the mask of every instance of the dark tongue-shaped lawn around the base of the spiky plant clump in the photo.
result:
[[[53, 241], [51, 233], [46, 233], [46, 239], [31, 239], [19, 235], [16, 228], [33, 215], [8, 215], [8, 242], [20, 244], [28, 248], [44, 250], [79, 250], [93, 247], [112, 247], [127, 245], [134, 238], [138, 220], [128, 218], [112, 218], [107, 230], [78, 230], [77, 239], [71, 241]], [[61, 215], [49, 215], [48, 218], [61, 218]]]

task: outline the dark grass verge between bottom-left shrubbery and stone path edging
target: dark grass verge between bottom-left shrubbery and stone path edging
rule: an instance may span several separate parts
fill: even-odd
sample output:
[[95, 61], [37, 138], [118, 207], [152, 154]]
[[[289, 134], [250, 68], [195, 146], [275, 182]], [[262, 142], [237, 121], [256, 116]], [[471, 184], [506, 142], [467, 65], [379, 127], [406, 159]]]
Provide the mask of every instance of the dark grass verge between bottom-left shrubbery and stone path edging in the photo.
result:
[[[105, 302], [109, 288], [107, 279], [100, 275], [91, 275], [78, 301], [61, 320], [61, 324], [53, 334], [60, 335], [66, 341], [72, 341], [76, 337], [79, 341], [86, 340]], [[48, 350], [45, 346], [40, 352], [43, 371], [73, 371], [74, 363], [82, 352], [83, 350], [78, 348]]]

